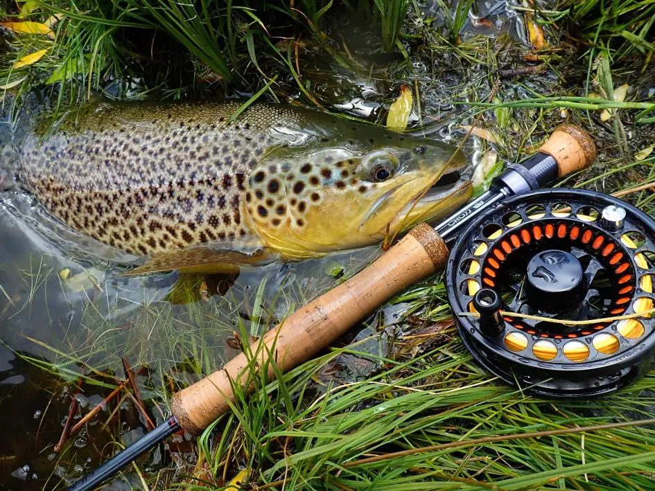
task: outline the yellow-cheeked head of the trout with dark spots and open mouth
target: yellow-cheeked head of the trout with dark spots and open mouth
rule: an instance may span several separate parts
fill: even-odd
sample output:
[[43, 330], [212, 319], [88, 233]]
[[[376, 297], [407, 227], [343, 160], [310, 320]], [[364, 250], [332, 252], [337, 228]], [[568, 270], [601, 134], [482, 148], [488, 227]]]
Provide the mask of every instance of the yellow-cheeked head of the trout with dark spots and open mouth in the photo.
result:
[[375, 136], [360, 131], [341, 143], [323, 137], [321, 145], [263, 159], [253, 170], [247, 211], [269, 247], [293, 259], [363, 247], [443, 217], [470, 197], [469, 181], [458, 173], [466, 164], [460, 150], [361, 128]]

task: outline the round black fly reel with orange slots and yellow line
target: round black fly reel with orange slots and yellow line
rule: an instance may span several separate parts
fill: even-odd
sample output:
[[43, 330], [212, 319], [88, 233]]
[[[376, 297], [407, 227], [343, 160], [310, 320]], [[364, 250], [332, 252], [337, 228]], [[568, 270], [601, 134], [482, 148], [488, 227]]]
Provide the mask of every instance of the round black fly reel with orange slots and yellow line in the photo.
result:
[[446, 285], [462, 340], [482, 367], [534, 393], [583, 397], [618, 390], [650, 368], [654, 275], [648, 215], [601, 193], [549, 189], [475, 220], [451, 249]]

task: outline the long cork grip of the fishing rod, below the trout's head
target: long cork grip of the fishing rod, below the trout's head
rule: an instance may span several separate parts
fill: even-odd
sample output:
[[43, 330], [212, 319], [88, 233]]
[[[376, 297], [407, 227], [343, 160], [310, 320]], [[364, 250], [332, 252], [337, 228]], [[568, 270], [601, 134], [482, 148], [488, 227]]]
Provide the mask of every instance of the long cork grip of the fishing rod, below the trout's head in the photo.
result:
[[[250, 346], [256, 364], [266, 364], [269, 353], [281, 371], [311, 359], [318, 351], [365, 319], [401, 289], [442, 269], [448, 249], [439, 234], [426, 224], [415, 227], [405, 238], [372, 265], [330, 292], [299, 308]], [[265, 349], [259, 343], [265, 343]], [[186, 431], [198, 434], [229, 410], [234, 400], [232, 384], [247, 384], [249, 360], [241, 353], [221, 370], [173, 396], [173, 414]], [[251, 387], [244, 387], [247, 392]]]

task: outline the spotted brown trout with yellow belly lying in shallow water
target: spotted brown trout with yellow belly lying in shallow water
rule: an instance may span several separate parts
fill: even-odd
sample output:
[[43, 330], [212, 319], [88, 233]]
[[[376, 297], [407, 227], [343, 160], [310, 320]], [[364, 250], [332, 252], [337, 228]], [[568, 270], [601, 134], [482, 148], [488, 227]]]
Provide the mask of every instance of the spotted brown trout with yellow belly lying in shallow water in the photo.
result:
[[232, 120], [239, 106], [97, 102], [30, 136], [22, 177], [73, 229], [150, 256], [138, 273], [374, 244], [471, 194], [449, 145], [287, 105]]

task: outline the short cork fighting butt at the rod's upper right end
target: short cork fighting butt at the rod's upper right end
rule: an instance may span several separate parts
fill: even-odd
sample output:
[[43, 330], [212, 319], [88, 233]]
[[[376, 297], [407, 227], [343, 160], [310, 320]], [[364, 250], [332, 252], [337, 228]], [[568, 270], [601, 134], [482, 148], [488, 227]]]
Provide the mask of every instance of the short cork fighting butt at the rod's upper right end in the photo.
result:
[[557, 177], [591, 166], [596, 159], [596, 145], [591, 136], [581, 127], [564, 124], [555, 128], [539, 152], [550, 155], [557, 161]]

